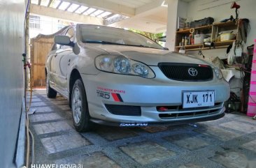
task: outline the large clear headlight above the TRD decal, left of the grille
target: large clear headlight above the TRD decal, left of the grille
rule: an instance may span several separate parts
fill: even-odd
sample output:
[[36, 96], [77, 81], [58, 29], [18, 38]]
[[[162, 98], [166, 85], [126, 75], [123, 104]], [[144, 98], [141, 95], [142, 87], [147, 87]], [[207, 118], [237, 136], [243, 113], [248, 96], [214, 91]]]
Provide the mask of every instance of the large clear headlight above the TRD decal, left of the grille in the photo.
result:
[[125, 56], [101, 55], [95, 59], [98, 70], [124, 75], [154, 78], [155, 73], [144, 63], [127, 59]]

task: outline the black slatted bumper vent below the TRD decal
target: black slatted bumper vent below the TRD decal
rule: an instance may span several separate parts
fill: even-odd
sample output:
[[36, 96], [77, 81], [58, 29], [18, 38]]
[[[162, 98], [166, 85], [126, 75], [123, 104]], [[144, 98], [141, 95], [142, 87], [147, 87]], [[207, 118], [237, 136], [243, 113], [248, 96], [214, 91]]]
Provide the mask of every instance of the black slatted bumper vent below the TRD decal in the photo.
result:
[[108, 112], [121, 116], [141, 116], [141, 107], [132, 105], [105, 105]]

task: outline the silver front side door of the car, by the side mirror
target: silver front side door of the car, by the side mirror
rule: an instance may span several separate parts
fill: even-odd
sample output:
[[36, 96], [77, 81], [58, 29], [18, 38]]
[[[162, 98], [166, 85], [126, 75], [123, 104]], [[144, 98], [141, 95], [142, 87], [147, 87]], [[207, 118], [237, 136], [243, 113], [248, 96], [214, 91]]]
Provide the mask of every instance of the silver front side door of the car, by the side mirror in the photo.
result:
[[[74, 29], [71, 27], [67, 32], [66, 36], [69, 36], [71, 42], [74, 42]], [[62, 45], [60, 49], [56, 52], [57, 56], [55, 58], [55, 68], [57, 75], [57, 87], [59, 92], [64, 96], [68, 96], [68, 82], [67, 82], [67, 72], [70, 66], [71, 57], [73, 56], [73, 48], [67, 45]]]

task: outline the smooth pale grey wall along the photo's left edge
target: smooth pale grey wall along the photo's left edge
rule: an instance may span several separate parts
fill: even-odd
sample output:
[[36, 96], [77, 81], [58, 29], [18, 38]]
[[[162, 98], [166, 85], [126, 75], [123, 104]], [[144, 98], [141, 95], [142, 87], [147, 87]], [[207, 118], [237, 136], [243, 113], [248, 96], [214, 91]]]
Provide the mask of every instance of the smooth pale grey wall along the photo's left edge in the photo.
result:
[[24, 96], [24, 0], [0, 0], [0, 167], [14, 157]]

